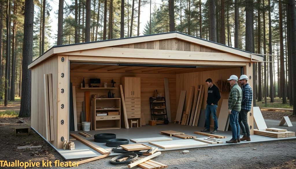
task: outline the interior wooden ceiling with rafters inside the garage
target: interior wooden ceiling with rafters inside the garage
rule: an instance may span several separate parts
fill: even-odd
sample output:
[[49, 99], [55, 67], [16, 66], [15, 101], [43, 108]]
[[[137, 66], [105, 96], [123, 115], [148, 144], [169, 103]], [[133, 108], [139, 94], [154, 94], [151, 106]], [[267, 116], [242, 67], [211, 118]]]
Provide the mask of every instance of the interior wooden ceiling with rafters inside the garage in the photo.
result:
[[70, 63], [70, 72], [98, 72], [98, 73], [163, 73], [179, 74], [190, 72], [202, 72], [208, 70], [229, 69], [234, 67], [146, 67], [146, 66], [118, 66], [118, 65], [99, 65], [90, 63]]

